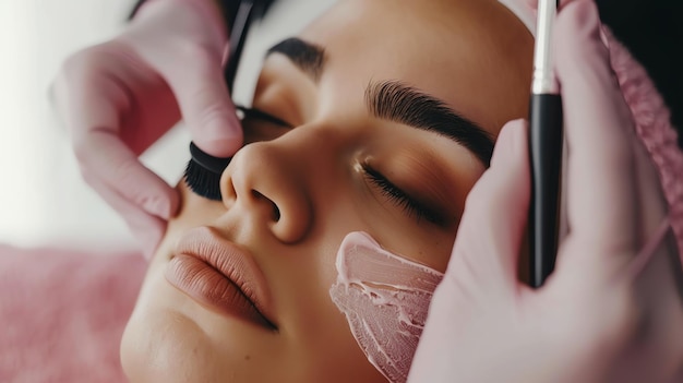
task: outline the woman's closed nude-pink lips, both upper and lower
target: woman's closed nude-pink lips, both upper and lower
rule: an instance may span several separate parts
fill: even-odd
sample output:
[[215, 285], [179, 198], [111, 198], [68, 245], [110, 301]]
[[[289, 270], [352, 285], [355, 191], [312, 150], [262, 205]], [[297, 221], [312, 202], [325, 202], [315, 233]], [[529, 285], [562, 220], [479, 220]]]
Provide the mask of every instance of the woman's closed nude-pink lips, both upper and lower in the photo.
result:
[[208, 227], [192, 229], [180, 239], [166, 279], [203, 306], [276, 328], [259, 266], [248, 252]]

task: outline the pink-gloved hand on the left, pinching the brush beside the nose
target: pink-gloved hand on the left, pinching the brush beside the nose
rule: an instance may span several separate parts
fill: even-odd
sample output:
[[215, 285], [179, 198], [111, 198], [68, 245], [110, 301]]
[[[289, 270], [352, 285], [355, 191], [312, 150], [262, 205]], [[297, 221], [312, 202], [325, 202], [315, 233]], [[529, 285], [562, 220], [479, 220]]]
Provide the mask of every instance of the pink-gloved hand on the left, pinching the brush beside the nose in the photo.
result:
[[128, 223], [145, 255], [179, 195], [137, 156], [181, 115], [194, 143], [226, 157], [242, 144], [223, 80], [226, 32], [213, 0], [154, 0], [115, 39], [71, 56], [52, 85], [84, 179]]

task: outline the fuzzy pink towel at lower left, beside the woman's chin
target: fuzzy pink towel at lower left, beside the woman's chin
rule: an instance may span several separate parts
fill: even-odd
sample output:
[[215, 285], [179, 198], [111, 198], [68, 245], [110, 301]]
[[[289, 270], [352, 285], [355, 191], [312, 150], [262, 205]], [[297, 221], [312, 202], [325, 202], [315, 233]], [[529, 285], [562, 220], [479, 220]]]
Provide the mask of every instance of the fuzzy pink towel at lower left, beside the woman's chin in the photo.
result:
[[125, 382], [119, 343], [145, 268], [140, 254], [0, 246], [0, 382]]

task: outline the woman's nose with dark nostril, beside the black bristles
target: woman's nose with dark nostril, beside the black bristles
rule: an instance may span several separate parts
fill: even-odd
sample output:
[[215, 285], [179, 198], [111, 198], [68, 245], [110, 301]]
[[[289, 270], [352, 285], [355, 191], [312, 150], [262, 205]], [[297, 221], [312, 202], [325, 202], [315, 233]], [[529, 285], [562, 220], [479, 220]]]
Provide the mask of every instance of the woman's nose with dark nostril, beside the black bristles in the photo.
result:
[[302, 240], [315, 218], [319, 176], [335, 156], [338, 140], [322, 127], [299, 127], [272, 141], [249, 144], [232, 158], [220, 181], [224, 203], [255, 215], [280, 241]]

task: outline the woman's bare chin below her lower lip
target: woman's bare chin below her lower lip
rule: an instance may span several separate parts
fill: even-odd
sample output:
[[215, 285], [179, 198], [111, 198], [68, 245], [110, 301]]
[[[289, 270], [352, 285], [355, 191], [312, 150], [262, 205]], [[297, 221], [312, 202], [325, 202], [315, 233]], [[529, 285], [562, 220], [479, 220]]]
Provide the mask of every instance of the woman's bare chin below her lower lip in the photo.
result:
[[249, 325], [206, 310], [152, 270], [123, 332], [120, 358], [131, 383], [254, 382], [242, 376], [253, 372], [242, 355], [256, 355], [249, 345], [262, 343]]

